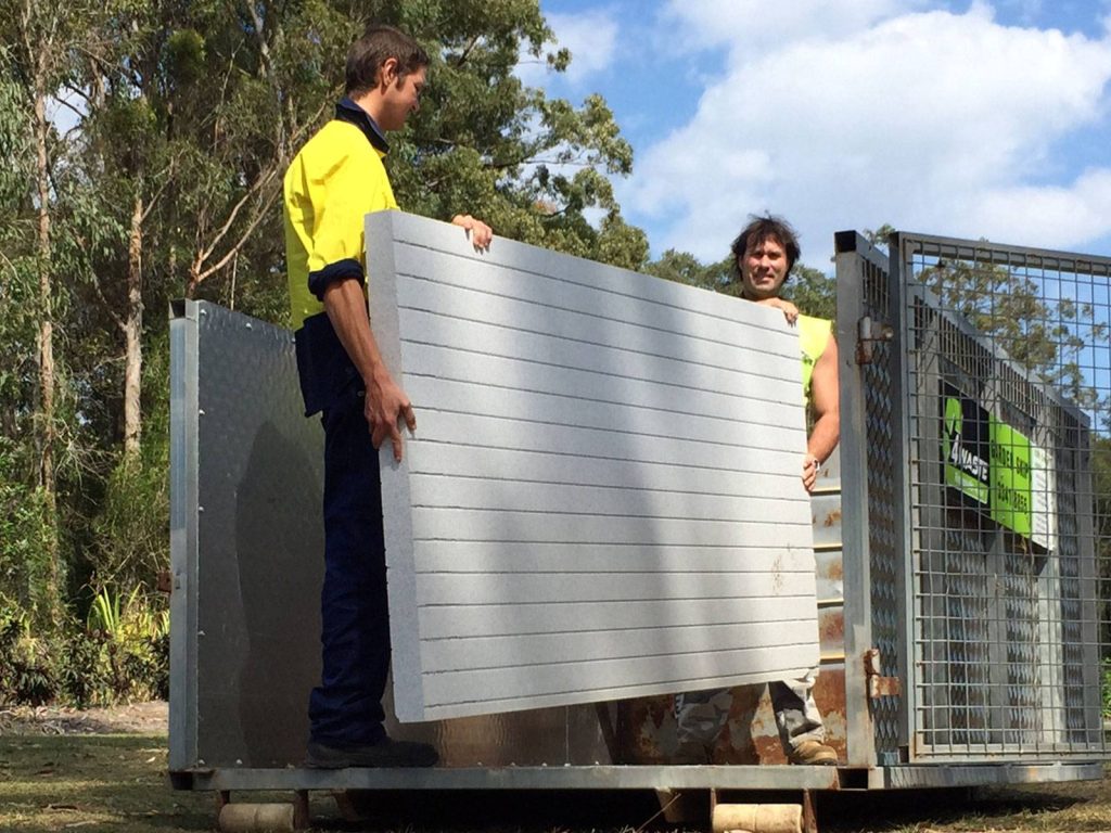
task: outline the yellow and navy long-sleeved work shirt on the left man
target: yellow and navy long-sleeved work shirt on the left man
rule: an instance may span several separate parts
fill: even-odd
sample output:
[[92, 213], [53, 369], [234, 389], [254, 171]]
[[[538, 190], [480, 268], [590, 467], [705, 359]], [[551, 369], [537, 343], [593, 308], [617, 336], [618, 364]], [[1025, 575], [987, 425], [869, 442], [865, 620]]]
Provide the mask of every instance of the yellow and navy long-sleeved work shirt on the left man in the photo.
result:
[[378, 127], [350, 99], [336, 117], [301, 148], [284, 180], [286, 268], [306, 414], [359, 384], [324, 312], [324, 289], [356, 278], [367, 291], [363, 219], [398, 207]]

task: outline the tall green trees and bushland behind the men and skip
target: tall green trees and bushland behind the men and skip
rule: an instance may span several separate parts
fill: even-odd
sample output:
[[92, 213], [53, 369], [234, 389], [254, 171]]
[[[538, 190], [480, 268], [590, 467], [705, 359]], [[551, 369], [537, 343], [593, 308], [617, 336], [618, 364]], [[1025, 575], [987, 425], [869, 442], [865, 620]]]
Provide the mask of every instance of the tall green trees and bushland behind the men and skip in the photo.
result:
[[[737, 293], [728, 259], [652, 259], [625, 222], [612, 183], [632, 151], [600, 96], [552, 99], [514, 74], [573, 60], [537, 0], [0, 0], [0, 703], [166, 697], [168, 302], [287, 322], [282, 174], [369, 21], [432, 57], [388, 157], [406, 210]], [[1002, 268], [928, 278], [1108, 413], [1074, 361], [1072, 322], [1091, 315]], [[801, 267], [790, 285], [832, 317], [828, 274]], [[1107, 440], [1095, 478], [1105, 544]]]

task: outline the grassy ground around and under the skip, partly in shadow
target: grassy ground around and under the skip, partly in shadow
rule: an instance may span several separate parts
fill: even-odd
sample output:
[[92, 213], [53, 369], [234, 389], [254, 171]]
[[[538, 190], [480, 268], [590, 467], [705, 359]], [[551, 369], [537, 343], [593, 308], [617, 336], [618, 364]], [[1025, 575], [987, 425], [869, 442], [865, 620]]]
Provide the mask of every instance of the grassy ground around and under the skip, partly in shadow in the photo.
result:
[[[11, 833], [174, 833], [216, 825], [208, 793], [167, 783], [166, 736], [136, 734], [0, 736], [0, 831]], [[289, 795], [251, 796], [288, 801]], [[413, 801], [419, 799], [419, 801]], [[464, 801], [404, 796], [369, 824], [344, 823], [334, 802], [313, 793], [314, 830], [627, 831], [653, 814], [651, 796], [590, 794], [581, 800]], [[574, 804], [575, 806], [571, 806]], [[1111, 779], [1005, 790], [822, 795], [821, 833], [1111, 831]], [[651, 827], [659, 827], [659, 821]], [[698, 825], [689, 827], [697, 830]]]

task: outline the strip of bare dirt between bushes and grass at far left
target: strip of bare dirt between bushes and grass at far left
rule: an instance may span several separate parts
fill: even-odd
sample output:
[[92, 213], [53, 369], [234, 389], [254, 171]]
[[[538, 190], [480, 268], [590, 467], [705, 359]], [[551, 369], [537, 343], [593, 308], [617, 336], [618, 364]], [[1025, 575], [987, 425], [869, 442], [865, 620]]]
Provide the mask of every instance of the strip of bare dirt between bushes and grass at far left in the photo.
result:
[[161, 700], [103, 709], [0, 706], [0, 735], [166, 735], [168, 715], [168, 705]]

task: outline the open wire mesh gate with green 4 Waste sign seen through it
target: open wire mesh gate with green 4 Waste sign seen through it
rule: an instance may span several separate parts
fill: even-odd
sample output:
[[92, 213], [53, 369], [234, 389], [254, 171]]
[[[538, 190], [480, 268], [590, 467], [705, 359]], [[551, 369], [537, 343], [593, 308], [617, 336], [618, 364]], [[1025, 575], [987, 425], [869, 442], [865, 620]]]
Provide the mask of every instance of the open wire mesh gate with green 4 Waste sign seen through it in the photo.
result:
[[1103, 749], [1111, 260], [908, 233], [891, 252], [910, 754], [1091, 756]]

